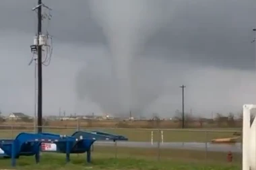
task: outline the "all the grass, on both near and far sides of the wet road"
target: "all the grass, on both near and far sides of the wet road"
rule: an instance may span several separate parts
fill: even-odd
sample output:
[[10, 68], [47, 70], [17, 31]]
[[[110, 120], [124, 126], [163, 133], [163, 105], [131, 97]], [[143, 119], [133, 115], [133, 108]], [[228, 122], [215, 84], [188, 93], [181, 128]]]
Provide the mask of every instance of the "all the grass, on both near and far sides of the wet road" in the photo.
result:
[[[92, 130], [92, 129], [90, 129]], [[13, 138], [23, 130], [0, 130], [1, 138]], [[135, 129], [113, 129], [100, 130], [123, 134], [131, 141], [150, 142], [152, 130]], [[234, 130], [238, 131], [238, 130]], [[33, 130], [27, 132], [34, 132]], [[46, 129], [44, 132], [58, 134], [72, 134], [75, 129]], [[154, 135], [159, 136], [158, 130], [154, 130]], [[205, 142], [212, 138], [232, 136], [232, 132], [208, 132], [203, 131], [170, 131], [164, 130], [164, 142]], [[206, 136], [206, 137], [205, 137]], [[155, 138], [155, 137], [154, 137]], [[155, 138], [157, 141], [157, 138]], [[205, 140], [207, 139], [207, 140]], [[232, 163], [226, 161], [227, 153], [210, 151], [191, 151], [168, 148], [129, 148], [94, 145], [92, 151], [92, 163], [85, 163], [85, 155], [74, 154], [71, 163], [65, 163], [65, 155], [56, 153], [42, 153], [39, 165], [34, 163], [34, 157], [20, 157], [16, 169], [40, 170], [40, 169], [95, 169], [95, 170], [236, 170], [241, 169], [242, 155], [233, 153]], [[0, 169], [13, 169], [10, 167], [9, 159], [0, 159]]]

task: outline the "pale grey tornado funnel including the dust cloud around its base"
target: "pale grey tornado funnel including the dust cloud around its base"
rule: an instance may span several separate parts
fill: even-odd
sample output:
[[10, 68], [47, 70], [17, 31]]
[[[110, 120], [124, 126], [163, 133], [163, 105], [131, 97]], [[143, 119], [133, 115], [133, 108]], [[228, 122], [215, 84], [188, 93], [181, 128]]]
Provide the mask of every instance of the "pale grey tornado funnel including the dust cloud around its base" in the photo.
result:
[[[143, 112], [160, 95], [161, 91], [156, 91], [152, 86], [160, 86], [162, 82], [158, 81], [156, 85], [147, 81], [147, 76], [156, 76], [153, 69], [150, 71], [154, 65], [147, 68], [147, 62], [142, 62], [140, 54], [150, 36], [170, 22], [172, 9], [167, 8], [169, 3], [148, 0], [89, 1], [92, 18], [102, 27], [106, 36], [113, 67], [110, 68], [112, 74], [108, 73], [108, 76], [102, 75], [92, 80], [87, 78], [86, 71], [86, 74], [82, 71], [79, 79], [86, 79], [87, 95], [104, 112]], [[150, 72], [152, 74], [148, 74]], [[77, 89], [77, 93], [81, 94], [81, 89]], [[110, 104], [109, 99], [113, 103]]]

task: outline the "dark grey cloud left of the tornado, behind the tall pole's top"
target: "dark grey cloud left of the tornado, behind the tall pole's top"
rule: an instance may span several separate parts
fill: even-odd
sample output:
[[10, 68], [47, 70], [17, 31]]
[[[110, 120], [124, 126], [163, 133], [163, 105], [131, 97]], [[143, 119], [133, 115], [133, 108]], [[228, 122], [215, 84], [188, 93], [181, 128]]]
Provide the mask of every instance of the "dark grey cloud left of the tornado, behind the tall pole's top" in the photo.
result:
[[[0, 30], [19, 30], [30, 34], [36, 33], [36, 13], [32, 7], [36, 6], [32, 0], [1, 1]], [[84, 0], [44, 0], [44, 4], [53, 9], [50, 33], [55, 41], [104, 43], [102, 30], [90, 17], [87, 2]], [[44, 22], [44, 26], [48, 26]], [[43, 29], [45, 30], [45, 28]]]

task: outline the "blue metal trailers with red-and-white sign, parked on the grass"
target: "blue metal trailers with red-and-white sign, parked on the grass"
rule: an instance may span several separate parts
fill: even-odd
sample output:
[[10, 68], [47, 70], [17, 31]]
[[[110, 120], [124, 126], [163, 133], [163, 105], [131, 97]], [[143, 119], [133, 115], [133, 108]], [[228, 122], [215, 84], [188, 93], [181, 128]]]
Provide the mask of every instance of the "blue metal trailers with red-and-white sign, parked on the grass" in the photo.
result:
[[57, 152], [66, 154], [66, 161], [70, 161], [71, 153], [87, 153], [87, 161], [90, 162], [90, 146], [95, 140], [78, 139], [73, 136], [62, 136], [58, 134], [30, 134], [22, 132], [14, 140], [0, 140], [0, 148], [4, 157], [11, 158], [14, 167], [16, 159], [20, 156], [35, 156], [36, 163], [40, 161], [40, 145], [42, 142], [55, 143]]

